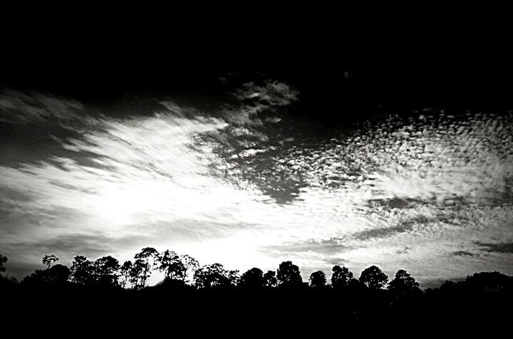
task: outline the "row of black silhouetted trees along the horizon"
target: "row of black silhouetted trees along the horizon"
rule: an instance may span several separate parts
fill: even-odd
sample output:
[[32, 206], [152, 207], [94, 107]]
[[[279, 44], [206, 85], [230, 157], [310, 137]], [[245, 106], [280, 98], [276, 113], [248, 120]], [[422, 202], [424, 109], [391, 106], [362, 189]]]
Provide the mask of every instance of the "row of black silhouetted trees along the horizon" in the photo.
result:
[[[0, 254], [0, 272], [6, 268], [7, 258]], [[291, 261], [279, 264], [276, 271], [261, 271], [251, 268], [244, 273], [231, 271], [222, 264], [199, 266], [196, 259], [188, 255], [179, 255], [174, 251], [158, 252], [152, 247], [142, 249], [135, 254], [132, 261], [120, 264], [113, 256], [103, 256], [91, 261], [86, 256], [76, 256], [71, 267], [56, 264], [55, 254], [43, 256], [44, 269], [38, 269], [18, 282], [15, 278], [1, 277], [2, 286], [63, 287], [89, 286], [95, 288], [142, 290], [147, 288], [148, 278], [155, 271], [164, 273], [165, 279], [157, 286], [174, 286], [193, 290], [243, 290], [266, 291], [278, 290], [317, 290], [346, 291], [361, 293], [363, 291], [388, 291], [395, 297], [415, 297], [434, 291], [457, 293], [465, 289], [499, 293], [511, 291], [513, 277], [499, 272], [482, 272], [468, 276], [465, 281], [445, 281], [439, 288], [422, 291], [419, 283], [410, 274], [400, 269], [393, 279], [377, 266], [370, 266], [361, 272], [359, 278], [346, 266], [333, 266], [328, 282], [326, 273], [315, 271], [309, 281], [303, 281], [299, 267]]]

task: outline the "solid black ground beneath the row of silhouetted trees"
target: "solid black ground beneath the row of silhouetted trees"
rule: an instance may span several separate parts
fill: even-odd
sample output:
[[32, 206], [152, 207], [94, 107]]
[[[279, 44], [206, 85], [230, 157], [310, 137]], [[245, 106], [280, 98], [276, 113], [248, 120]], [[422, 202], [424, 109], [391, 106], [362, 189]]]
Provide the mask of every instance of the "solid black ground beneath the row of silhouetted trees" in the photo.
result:
[[29, 324], [24, 330], [102, 328], [119, 335], [159, 328], [179, 338], [187, 333], [245, 338], [267, 331], [343, 336], [353, 330], [392, 333], [392, 329], [422, 328], [422, 332], [447, 325], [492, 330], [507, 326], [513, 315], [512, 285], [486, 279], [401, 295], [306, 287], [196, 289], [172, 283], [142, 290], [12, 284], [2, 286], [0, 293], [2, 322], [12, 325], [21, 320]]

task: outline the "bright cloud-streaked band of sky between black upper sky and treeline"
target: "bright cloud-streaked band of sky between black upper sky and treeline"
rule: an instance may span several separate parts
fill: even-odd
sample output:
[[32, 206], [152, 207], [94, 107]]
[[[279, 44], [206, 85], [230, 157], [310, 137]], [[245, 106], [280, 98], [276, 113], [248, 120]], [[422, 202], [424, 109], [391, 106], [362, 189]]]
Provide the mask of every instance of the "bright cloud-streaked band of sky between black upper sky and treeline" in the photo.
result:
[[291, 260], [305, 280], [334, 265], [403, 268], [424, 287], [513, 274], [511, 113], [424, 108], [326, 128], [287, 110], [300, 99], [271, 79], [229, 99], [108, 104], [2, 90], [6, 273], [152, 246], [240, 271]]

